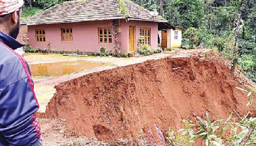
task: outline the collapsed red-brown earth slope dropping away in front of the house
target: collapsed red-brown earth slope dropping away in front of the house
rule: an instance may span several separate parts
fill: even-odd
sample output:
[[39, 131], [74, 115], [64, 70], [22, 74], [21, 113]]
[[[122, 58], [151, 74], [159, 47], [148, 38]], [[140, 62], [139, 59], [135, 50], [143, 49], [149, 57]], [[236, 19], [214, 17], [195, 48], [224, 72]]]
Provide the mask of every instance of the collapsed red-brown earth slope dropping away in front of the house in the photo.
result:
[[225, 59], [209, 53], [163, 58], [91, 73], [57, 85], [44, 118], [62, 118], [67, 127], [102, 141], [143, 137], [166, 143], [169, 127], [182, 119], [227, 118], [229, 109], [249, 110], [244, 88]]

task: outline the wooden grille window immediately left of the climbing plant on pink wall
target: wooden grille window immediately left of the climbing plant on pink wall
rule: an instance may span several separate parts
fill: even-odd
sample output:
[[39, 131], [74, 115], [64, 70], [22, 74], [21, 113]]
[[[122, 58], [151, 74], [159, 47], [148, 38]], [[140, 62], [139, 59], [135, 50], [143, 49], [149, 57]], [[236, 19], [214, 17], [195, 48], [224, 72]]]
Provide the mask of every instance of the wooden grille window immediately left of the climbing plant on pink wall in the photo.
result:
[[112, 43], [112, 27], [99, 27], [98, 33], [100, 44]]

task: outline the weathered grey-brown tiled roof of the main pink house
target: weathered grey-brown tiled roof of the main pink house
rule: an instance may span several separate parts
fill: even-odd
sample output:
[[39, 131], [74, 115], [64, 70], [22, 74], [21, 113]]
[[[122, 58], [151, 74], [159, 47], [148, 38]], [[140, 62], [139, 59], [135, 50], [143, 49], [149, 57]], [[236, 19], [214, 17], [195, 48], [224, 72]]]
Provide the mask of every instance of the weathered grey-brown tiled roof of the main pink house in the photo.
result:
[[21, 25], [71, 23], [111, 19], [138, 19], [166, 22], [159, 16], [153, 17], [149, 11], [129, 0], [76, 0], [64, 2], [38, 13]]

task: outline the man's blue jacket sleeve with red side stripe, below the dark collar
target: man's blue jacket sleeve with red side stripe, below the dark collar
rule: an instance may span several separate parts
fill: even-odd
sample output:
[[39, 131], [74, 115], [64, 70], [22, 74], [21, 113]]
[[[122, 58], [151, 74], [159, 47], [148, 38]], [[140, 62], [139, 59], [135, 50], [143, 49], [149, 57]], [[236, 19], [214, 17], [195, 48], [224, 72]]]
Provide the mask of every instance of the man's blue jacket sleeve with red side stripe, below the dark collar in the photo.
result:
[[[14, 55], [0, 62], [0, 134], [9, 146], [40, 146], [42, 144], [34, 86], [25, 60]], [[3, 76], [2, 76], [3, 77]]]

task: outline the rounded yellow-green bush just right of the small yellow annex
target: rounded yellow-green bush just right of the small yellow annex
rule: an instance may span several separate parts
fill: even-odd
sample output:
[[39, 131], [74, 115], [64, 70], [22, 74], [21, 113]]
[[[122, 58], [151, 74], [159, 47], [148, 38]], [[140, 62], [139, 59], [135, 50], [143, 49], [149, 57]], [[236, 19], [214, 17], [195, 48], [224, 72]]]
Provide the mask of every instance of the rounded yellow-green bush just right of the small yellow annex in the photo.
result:
[[198, 42], [198, 31], [194, 27], [189, 27], [183, 34], [189, 41], [189, 48], [194, 48]]

